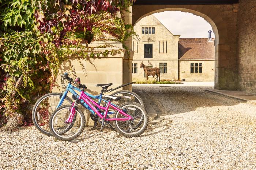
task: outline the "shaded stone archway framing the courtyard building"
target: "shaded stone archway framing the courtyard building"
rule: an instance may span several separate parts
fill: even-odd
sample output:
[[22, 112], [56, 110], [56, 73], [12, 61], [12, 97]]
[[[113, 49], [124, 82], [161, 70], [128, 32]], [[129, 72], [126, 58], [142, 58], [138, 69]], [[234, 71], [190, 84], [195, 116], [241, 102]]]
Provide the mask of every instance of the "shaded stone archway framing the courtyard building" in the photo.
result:
[[211, 24], [215, 33], [215, 89], [236, 90], [237, 5], [134, 5], [132, 24], [145, 16], [164, 11], [193, 13]]

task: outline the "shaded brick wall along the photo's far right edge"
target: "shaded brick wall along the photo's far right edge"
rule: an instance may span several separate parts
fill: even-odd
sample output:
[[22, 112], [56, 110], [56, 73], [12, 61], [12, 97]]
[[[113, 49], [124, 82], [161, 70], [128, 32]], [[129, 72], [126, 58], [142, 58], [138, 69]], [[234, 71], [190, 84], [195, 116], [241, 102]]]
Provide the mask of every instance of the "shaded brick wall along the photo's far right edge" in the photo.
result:
[[256, 93], [256, 1], [240, 0], [238, 12], [238, 89]]

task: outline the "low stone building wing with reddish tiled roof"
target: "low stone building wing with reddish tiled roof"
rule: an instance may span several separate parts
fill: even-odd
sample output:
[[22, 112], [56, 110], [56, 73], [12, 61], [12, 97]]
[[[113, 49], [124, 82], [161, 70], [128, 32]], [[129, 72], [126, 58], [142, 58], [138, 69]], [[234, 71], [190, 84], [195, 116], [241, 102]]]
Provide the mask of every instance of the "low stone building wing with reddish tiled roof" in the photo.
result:
[[214, 39], [179, 39], [179, 79], [190, 82], [214, 81]]

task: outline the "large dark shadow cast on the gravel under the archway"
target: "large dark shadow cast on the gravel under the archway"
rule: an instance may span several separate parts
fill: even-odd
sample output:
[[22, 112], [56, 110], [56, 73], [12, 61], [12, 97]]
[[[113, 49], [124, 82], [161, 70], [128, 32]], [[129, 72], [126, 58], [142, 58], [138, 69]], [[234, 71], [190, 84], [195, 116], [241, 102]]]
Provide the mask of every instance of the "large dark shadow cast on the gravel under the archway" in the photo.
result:
[[160, 108], [163, 115], [195, 111], [199, 107], [234, 106], [244, 101], [206, 92], [212, 87], [137, 86]]

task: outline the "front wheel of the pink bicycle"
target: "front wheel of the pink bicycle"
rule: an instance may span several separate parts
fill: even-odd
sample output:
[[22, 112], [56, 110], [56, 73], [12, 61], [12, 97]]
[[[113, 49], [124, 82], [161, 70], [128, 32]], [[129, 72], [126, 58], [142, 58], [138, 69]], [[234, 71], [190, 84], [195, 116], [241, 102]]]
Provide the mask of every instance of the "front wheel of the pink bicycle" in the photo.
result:
[[57, 108], [50, 117], [49, 127], [53, 136], [61, 141], [71, 141], [79, 137], [85, 127], [85, 117], [79, 108], [75, 108], [75, 116], [71, 123], [66, 123], [70, 114], [70, 105]]

